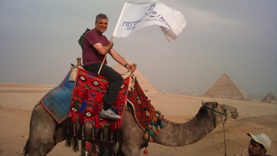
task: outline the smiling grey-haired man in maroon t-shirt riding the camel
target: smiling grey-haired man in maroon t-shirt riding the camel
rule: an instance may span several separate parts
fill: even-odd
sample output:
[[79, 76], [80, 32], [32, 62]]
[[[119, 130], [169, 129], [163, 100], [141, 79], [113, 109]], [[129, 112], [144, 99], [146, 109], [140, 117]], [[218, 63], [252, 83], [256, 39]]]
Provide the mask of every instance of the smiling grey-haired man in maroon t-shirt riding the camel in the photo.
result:
[[104, 108], [99, 117], [118, 120], [121, 117], [115, 114], [111, 108], [117, 98], [118, 91], [123, 83], [122, 76], [111, 67], [107, 66], [105, 55], [109, 53], [111, 57], [128, 70], [136, 70], [136, 67], [129, 65], [112, 47], [114, 43], [108, 41], [106, 36], [102, 35], [108, 27], [108, 17], [105, 14], [98, 14], [95, 19], [95, 28], [86, 32], [82, 45], [83, 68], [93, 73], [98, 73], [102, 61], [105, 58], [99, 75], [107, 78], [109, 86], [103, 97]]

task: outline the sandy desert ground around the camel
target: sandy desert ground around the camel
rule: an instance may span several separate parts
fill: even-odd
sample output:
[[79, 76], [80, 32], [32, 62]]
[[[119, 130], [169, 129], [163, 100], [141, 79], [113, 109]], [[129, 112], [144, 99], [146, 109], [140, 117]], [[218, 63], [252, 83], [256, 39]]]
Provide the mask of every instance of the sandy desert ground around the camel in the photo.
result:
[[[23, 154], [29, 136], [29, 124], [34, 105], [53, 85], [0, 83], [0, 156]], [[237, 108], [238, 119], [229, 119], [225, 124], [227, 155], [247, 156], [250, 137], [247, 133], [265, 133], [271, 138], [267, 154], [277, 155], [277, 105], [256, 101], [238, 101], [185, 95], [147, 93], [156, 110], [173, 122], [187, 122], [195, 116], [202, 101], [217, 101]], [[174, 137], [174, 136], [172, 136]], [[224, 155], [223, 125], [219, 125], [199, 142], [191, 145], [169, 147], [149, 143], [148, 155], [154, 156], [217, 156]], [[73, 155], [73, 150], [58, 143], [50, 156]], [[143, 154], [143, 149], [141, 154]]]

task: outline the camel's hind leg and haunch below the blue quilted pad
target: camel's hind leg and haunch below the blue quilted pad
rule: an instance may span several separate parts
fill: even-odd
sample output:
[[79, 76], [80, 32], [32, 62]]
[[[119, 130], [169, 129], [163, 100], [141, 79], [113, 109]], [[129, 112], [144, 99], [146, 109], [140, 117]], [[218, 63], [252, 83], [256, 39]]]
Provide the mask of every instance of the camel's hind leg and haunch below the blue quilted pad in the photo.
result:
[[51, 115], [41, 104], [37, 104], [30, 121], [29, 156], [46, 155], [53, 149], [55, 126], [56, 123]]

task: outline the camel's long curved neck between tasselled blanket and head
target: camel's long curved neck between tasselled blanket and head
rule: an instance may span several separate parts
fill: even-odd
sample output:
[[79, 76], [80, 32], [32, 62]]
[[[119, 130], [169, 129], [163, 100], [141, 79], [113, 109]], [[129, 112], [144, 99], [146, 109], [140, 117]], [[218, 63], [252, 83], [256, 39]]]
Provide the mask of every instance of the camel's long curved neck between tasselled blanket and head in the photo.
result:
[[165, 146], [184, 146], [195, 143], [214, 129], [211, 113], [200, 109], [194, 118], [186, 123], [175, 123], [164, 119], [161, 129], [154, 142]]

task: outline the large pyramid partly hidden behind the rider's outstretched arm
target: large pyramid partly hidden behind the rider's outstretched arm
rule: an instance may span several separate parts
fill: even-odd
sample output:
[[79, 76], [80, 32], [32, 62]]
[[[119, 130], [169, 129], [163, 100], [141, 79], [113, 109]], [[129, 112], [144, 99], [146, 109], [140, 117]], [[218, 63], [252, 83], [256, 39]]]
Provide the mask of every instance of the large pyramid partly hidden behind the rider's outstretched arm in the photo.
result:
[[[123, 57], [123, 59], [128, 64], [133, 64], [128, 58]], [[138, 65], [138, 68], [139, 68], [139, 65]], [[150, 93], [158, 93], [158, 91], [150, 84], [150, 82], [147, 81], [147, 79], [139, 72], [138, 68], [134, 71], [134, 75], [137, 77], [137, 80], [142, 90], [145, 90], [146, 92], [150, 92]], [[120, 74], [124, 74], [127, 71], [127, 69], [121, 64], [119, 64], [118, 62], [116, 62], [116, 64], [113, 66], [113, 69]]]

